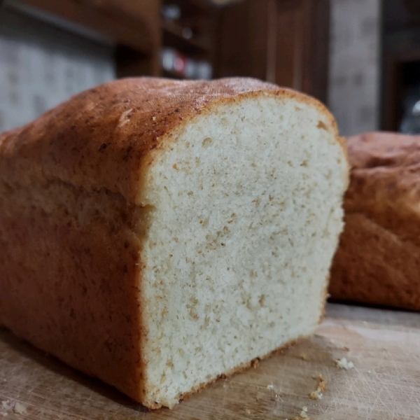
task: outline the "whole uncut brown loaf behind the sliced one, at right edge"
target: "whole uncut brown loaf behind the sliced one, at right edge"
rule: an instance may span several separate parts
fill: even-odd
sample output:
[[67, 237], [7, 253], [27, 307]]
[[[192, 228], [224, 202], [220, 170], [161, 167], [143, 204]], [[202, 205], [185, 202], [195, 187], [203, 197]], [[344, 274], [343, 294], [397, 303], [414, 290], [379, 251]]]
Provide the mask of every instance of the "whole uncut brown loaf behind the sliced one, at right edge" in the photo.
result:
[[420, 136], [347, 140], [346, 227], [331, 270], [338, 300], [420, 310]]

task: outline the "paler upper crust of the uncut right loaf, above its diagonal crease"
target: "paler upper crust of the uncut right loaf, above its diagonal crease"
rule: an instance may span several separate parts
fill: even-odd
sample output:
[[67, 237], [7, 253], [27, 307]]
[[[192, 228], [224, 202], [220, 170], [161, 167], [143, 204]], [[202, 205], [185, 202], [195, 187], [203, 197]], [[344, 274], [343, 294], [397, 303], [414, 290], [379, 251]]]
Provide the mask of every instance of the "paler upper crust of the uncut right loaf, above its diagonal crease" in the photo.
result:
[[370, 133], [348, 140], [346, 213], [363, 213], [420, 246], [420, 136]]

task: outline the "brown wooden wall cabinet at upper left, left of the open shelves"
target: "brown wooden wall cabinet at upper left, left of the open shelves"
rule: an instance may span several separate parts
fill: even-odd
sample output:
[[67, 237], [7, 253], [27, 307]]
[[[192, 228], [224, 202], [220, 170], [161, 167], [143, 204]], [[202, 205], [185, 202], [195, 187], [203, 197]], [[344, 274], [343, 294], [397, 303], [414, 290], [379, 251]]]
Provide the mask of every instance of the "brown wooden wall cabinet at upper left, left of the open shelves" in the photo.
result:
[[106, 36], [116, 45], [118, 76], [160, 74], [160, 0], [22, 0], [4, 7], [52, 25], [61, 25], [53, 17], [62, 18]]

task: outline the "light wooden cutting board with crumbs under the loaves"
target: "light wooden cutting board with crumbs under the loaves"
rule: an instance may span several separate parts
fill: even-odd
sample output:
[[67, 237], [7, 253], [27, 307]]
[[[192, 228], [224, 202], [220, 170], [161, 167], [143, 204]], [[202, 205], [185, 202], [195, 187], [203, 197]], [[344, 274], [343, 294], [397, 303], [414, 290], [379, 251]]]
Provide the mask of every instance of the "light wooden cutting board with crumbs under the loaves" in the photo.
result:
[[[311, 400], [319, 373], [328, 388]], [[155, 412], [0, 330], [0, 419], [291, 420], [303, 407], [311, 419], [419, 420], [420, 314], [328, 304], [312, 339]]]

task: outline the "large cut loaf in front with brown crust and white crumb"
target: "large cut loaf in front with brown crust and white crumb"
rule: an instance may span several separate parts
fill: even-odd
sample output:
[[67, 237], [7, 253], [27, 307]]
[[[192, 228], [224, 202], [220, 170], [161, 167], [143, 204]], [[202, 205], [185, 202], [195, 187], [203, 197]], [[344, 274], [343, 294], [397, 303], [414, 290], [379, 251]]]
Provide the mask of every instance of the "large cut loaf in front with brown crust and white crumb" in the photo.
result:
[[323, 315], [345, 146], [250, 79], [118, 80], [0, 137], [0, 323], [173, 407]]

